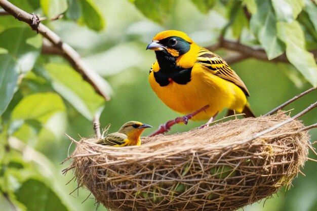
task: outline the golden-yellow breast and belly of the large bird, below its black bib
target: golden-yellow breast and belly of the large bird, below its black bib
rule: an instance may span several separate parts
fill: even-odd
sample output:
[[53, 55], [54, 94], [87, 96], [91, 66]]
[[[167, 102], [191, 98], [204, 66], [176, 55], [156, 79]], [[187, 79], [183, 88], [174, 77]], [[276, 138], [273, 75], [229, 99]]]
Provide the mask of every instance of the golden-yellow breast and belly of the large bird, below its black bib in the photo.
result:
[[161, 87], [155, 81], [153, 71], [149, 75], [149, 82], [156, 95], [176, 112], [188, 114], [210, 106], [194, 116], [193, 120], [209, 119], [224, 108], [242, 112], [247, 104], [247, 98], [239, 87], [212, 74], [199, 63], [192, 67], [191, 80], [186, 85], [171, 81], [169, 85]]

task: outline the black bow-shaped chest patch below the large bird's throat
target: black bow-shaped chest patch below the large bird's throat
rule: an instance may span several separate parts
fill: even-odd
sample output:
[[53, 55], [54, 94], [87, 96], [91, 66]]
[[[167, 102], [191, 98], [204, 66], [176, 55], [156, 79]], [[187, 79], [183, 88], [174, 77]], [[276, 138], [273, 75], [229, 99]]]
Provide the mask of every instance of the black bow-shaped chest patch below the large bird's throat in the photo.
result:
[[175, 70], [160, 69], [159, 71], [154, 72], [154, 78], [155, 78], [155, 81], [159, 83], [161, 87], [165, 87], [169, 85], [171, 80], [180, 85], [185, 85], [191, 80], [191, 68], [190, 69], [178, 68]]

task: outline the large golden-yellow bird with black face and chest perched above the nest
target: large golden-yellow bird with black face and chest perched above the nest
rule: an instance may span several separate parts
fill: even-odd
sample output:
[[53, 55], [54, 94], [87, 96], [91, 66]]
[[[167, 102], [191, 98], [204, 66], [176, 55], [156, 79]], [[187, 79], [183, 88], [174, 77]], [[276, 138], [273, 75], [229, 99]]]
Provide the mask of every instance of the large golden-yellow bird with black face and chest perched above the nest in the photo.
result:
[[149, 73], [151, 88], [174, 111], [188, 114], [209, 105], [192, 119], [209, 119], [224, 108], [228, 113], [254, 116], [241, 78], [221, 57], [195, 44], [184, 32], [160, 32], [147, 49], [156, 54]]

